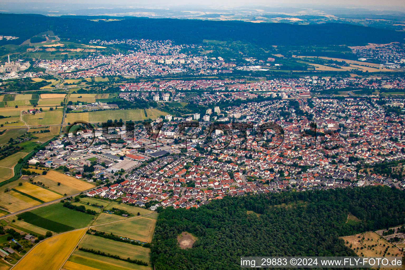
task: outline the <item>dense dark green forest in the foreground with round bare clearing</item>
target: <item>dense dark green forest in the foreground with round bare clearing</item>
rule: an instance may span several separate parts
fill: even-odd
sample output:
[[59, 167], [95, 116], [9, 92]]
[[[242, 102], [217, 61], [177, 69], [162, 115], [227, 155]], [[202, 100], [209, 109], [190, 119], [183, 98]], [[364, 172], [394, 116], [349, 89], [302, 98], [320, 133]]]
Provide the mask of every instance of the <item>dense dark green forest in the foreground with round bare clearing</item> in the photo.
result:
[[[405, 196], [370, 186], [226, 197], [198, 209], [158, 211], [156, 270], [230, 270], [240, 269], [241, 256], [356, 256], [339, 236], [403, 224]], [[360, 221], [346, 223], [349, 213]], [[177, 244], [185, 231], [198, 238], [191, 249]]]

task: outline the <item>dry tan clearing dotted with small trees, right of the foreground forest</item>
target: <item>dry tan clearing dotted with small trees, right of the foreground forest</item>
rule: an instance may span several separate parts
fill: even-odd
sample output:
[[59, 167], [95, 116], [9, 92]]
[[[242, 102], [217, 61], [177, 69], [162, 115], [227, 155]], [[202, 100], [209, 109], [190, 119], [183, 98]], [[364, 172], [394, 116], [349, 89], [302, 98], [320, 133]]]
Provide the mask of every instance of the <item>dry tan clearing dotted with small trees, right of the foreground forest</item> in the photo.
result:
[[[341, 238], [345, 242], [345, 245], [359, 256], [380, 257], [384, 255], [384, 251], [386, 251], [387, 247], [389, 248], [386, 256], [402, 257], [404, 255], [398, 247], [395, 247], [394, 244], [389, 243], [375, 232], [365, 232]], [[373, 245], [374, 247], [372, 247]]]

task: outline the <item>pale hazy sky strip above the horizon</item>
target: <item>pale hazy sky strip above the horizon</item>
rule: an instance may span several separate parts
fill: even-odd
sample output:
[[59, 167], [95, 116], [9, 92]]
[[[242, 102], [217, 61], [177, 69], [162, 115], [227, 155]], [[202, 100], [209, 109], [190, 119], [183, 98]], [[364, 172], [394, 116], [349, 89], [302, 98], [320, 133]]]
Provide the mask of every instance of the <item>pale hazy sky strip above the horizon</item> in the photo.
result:
[[[204, 6], [207, 8], [234, 8], [240, 6], [286, 6], [286, 7], [362, 7], [381, 10], [404, 10], [405, 0], [0, 0], [0, 3], [11, 2], [49, 3], [52, 4], [96, 4], [119, 5], [133, 8], [169, 8], [175, 6]], [[80, 5], [77, 6], [80, 9]]]

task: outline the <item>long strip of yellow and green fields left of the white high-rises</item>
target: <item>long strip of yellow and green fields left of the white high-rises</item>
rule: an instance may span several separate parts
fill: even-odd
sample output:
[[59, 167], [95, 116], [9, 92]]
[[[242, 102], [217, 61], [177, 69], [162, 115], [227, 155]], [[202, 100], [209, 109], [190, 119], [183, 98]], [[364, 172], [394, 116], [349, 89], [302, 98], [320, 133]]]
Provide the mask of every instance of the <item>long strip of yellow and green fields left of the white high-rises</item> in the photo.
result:
[[122, 119], [124, 121], [139, 121], [149, 118], [158, 118], [160, 115], [166, 115], [162, 111], [156, 109], [146, 109], [147, 117], [142, 109], [137, 110], [109, 110], [109, 111], [96, 111], [88, 113], [68, 113], [65, 117], [66, 123], [74, 123], [75, 121], [87, 121], [89, 123], [102, 123], [107, 122], [108, 119]]

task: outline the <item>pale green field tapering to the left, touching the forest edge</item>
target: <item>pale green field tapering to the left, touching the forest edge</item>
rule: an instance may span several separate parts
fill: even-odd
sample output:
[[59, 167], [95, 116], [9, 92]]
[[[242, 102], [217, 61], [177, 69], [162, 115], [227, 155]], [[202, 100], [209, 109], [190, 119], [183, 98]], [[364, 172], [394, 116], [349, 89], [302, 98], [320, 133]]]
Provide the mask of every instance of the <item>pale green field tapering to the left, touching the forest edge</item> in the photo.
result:
[[141, 242], [151, 242], [156, 220], [145, 217], [133, 217], [110, 224], [96, 225], [94, 230], [125, 236]]

